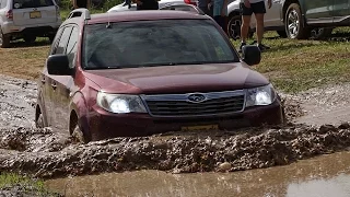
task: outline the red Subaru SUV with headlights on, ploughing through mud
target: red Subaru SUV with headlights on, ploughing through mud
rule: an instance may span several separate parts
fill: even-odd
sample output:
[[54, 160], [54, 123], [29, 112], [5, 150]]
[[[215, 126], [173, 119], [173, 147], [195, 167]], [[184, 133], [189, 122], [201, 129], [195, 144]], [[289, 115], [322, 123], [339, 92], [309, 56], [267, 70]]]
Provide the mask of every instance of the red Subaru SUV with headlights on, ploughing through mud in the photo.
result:
[[92, 14], [58, 30], [38, 83], [37, 127], [83, 141], [281, 124], [272, 85], [209, 16], [184, 11]]

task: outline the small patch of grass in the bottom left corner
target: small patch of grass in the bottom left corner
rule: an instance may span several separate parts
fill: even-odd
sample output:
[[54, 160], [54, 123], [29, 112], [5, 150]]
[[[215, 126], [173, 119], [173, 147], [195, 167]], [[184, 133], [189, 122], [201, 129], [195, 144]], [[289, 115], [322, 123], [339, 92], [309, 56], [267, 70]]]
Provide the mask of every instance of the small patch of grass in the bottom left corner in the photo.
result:
[[45, 189], [44, 182], [12, 173], [0, 174], [0, 196], [61, 196]]

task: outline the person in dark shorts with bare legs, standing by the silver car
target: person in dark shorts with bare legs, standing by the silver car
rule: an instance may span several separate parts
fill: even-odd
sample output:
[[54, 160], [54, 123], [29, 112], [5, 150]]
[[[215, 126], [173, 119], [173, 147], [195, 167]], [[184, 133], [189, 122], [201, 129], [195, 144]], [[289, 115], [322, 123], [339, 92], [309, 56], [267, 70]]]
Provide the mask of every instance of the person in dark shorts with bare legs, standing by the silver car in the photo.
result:
[[[271, 0], [268, 1], [268, 8], [270, 9], [272, 5]], [[241, 1], [241, 10], [242, 10], [242, 26], [241, 26], [241, 46], [240, 51], [242, 51], [242, 47], [246, 45], [246, 38], [248, 36], [249, 24], [252, 14], [255, 14], [256, 19], [256, 36], [257, 36], [257, 46], [261, 51], [269, 49], [270, 47], [262, 45], [262, 36], [264, 36], [264, 14], [266, 13], [265, 0], [242, 0]]]

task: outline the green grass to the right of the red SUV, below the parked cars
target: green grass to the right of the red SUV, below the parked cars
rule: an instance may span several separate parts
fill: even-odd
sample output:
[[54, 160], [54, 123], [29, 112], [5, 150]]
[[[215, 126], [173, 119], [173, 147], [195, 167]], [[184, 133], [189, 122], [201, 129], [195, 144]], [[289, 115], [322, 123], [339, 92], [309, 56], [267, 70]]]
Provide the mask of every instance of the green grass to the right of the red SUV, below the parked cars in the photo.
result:
[[[350, 28], [337, 28], [332, 33], [335, 37], [340, 35], [350, 37]], [[240, 46], [240, 40], [233, 43]], [[254, 68], [283, 92], [296, 93], [350, 81], [349, 42], [295, 40], [278, 38], [275, 32], [267, 32], [264, 44], [271, 49], [262, 53], [260, 65]]]

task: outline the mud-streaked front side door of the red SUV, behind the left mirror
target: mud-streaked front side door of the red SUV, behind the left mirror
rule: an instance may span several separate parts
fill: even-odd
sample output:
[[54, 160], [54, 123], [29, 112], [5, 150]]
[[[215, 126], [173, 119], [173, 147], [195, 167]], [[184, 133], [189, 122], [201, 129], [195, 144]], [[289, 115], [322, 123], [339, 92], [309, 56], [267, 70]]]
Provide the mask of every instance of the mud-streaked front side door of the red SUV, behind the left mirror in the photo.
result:
[[[70, 34], [65, 54], [68, 56], [69, 67], [75, 67], [75, 55], [78, 49], [79, 39], [79, 28], [73, 26]], [[58, 120], [57, 126], [59, 129], [67, 130], [69, 127], [69, 104], [70, 104], [70, 93], [74, 86], [73, 76], [59, 76], [55, 78], [56, 84], [56, 103], [55, 103], [55, 114]]]

